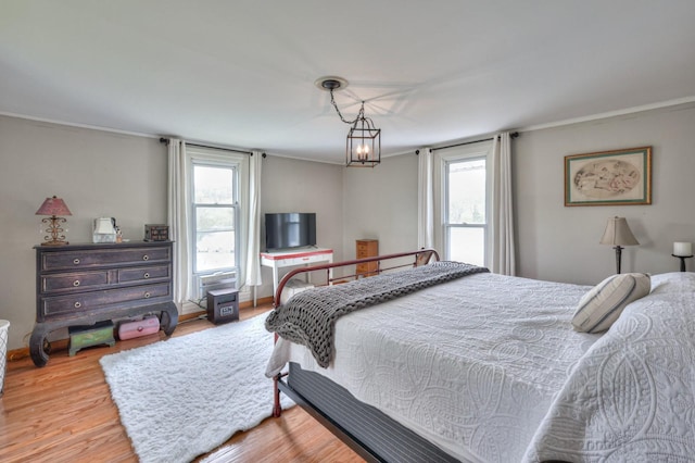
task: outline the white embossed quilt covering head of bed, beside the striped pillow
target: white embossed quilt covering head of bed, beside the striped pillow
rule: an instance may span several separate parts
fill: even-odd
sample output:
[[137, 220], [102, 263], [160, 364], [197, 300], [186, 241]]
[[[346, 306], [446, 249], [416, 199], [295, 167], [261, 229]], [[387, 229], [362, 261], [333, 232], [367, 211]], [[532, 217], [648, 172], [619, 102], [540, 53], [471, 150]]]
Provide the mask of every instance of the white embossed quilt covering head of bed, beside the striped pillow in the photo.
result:
[[581, 359], [526, 460], [695, 462], [695, 274], [652, 276]]

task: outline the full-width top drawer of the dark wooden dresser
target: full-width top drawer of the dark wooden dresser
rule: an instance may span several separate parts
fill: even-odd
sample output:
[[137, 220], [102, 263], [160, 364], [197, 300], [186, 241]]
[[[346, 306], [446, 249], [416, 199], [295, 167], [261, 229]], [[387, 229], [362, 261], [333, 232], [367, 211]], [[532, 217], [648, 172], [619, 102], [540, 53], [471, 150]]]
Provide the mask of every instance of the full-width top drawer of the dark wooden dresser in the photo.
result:
[[41, 255], [40, 271], [64, 271], [148, 262], [168, 262], [169, 248], [124, 248], [65, 252], [46, 252]]

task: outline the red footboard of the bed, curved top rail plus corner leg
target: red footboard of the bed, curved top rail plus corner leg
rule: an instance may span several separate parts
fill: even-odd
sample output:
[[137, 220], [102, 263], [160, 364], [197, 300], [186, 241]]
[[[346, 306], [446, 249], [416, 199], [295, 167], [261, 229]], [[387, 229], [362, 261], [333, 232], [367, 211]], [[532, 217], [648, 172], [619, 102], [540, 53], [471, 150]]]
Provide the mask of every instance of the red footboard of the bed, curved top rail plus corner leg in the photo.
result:
[[[412, 261], [407, 261], [406, 258], [412, 258]], [[357, 279], [359, 275], [355, 272], [351, 275], [343, 275], [340, 277], [331, 277], [331, 271], [338, 267], [346, 267], [357, 264], [365, 264], [369, 262], [377, 262], [377, 270], [370, 270], [368, 272], [369, 275], [380, 274], [382, 272], [405, 268], [405, 267], [416, 267], [420, 265], [428, 264], [430, 261], [439, 261], [439, 253], [434, 249], [420, 249], [419, 251], [410, 251], [410, 252], [400, 252], [396, 254], [384, 254], [377, 255], [374, 258], [365, 258], [365, 259], [356, 259], [353, 261], [344, 261], [344, 262], [334, 262], [331, 264], [319, 264], [319, 265], [311, 265], [306, 267], [301, 267], [288, 272], [287, 275], [282, 277], [280, 283], [278, 284], [278, 289], [275, 292], [275, 297], [273, 298], [273, 306], [277, 308], [280, 305], [280, 297], [282, 296], [282, 289], [285, 285], [292, 279], [292, 277], [300, 274], [307, 274], [308, 272], [316, 271], [326, 271], [326, 280], [327, 285], [332, 285], [333, 281], [344, 280], [344, 279]], [[382, 262], [388, 263], [388, 266], [383, 266]], [[395, 262], [394, 262], [395, 261]], [[400, 261], [400, 262], [399, 262]], [[274, 335], [275, 342], [278, 340], [277, 333]], [[282, 383], [282, 378], [287, 376], [287, 373], [279, 373], [273, 378], [273, 388], [274, 388], [274, 404], [273, 404], [273, 416], [278, 417], [282, 413], [282, 408], [280, 405], [280, 385], [286, 386]], [[287, 387], [287, 386], [286, 386]], [[287, 389], [286, 389], [287, 390]]]

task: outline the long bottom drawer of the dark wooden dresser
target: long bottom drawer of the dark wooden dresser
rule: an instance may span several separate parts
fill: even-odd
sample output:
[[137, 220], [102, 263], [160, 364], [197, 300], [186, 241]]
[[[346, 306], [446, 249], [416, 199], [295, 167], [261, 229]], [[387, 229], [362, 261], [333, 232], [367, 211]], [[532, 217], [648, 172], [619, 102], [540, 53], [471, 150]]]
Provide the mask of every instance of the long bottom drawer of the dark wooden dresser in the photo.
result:
[[[99, 311], [101, 308], [117, 303], [124, 305], [132, 305], [134, 303], [137, 305], [138, 301], [149, 303], [156, 298], [170, 300], [172, 289], [168, 283], [47, 297], [40, 301], [40, 315], [50, 318], [51, 316], [79, 314]], [[42, 321], [39, 320], [39, 322]]]

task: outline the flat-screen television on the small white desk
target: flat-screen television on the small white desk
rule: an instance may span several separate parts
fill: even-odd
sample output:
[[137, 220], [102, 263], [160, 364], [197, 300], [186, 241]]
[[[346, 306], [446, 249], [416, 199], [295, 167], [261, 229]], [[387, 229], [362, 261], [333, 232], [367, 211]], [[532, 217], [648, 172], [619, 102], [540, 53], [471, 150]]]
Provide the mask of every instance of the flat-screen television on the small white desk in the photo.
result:
[[316, 246], [316, 213], [283, 212], [265, 214], [265, 249]]

